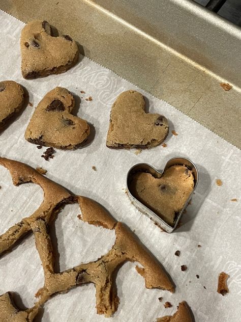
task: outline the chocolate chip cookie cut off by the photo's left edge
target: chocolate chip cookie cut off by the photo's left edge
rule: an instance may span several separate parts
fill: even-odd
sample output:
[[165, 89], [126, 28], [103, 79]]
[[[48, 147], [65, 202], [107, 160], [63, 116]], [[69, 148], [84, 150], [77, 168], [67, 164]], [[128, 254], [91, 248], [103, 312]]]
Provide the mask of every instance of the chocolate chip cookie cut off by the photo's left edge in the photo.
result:
[[23, 107], [24, 92], [16, 82], [0, 82], [0, 129]]

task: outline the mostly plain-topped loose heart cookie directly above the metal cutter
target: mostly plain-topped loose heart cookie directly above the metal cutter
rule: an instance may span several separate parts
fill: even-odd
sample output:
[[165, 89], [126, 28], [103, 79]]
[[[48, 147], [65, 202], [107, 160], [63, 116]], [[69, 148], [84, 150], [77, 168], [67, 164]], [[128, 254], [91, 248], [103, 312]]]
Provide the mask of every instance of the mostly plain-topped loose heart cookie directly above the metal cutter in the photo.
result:
[[119, 94], [110, 113], [106, 145], [109, 148], [151, 148], [168, 135], [167, 119], [145, 113], [141, 93], [129, 90]]

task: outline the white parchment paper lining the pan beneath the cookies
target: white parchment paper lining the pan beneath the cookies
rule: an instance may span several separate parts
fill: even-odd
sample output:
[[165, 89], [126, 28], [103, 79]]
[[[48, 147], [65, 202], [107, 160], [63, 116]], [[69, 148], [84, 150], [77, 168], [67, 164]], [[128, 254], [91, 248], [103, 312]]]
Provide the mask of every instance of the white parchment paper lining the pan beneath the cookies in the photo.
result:
[[[27, 81], [20, 71], [19, 37], [23, 23], [0, 11], [1, 33], [0, 79], [13, 79], [29, 93], [29, 101], [37, 106], [44, 94], [56, 86], [66, 87], [80, 102], [77, 115], [93, 124], [94, 140], [76, 151], [56, 150], [49, 162], [41, 158], [45, 150], [24, 140], [24, 131], [34, 107], [27, 106], [20, 117], [0, 136], [1, 156], [13, 158], [36, 168], [48, 170], [47, 177], [75, 194], [88, 196], [104, 205], [119, 221], [124, 221], [146, 247], [160, 260], [176, 284], [176, 292], [145, 289], [143, 278], [134, 263], [126, 263], [117, 275], [120, 304], [113, 321], [153, 321], [173, 314], [176, 305], [186, 300], [196, 322], [239, 321], [241, 313], [241, 218], [240, 218], [240, 157], [241, 152], [214, 133], [180, 113], [172, 106], [141, 90], [150, 113], [164, 114], [170, 123], [167, 147], [142, 151], [111, 150], [105, 140], [111, 105], [116, 96], [134, 85], [111, 71], [81, 58], [70, 71], [42, 79]], [[130, 66], [131, 68], [131, 66]], [[173, 89], [175, 90], [175, 89]], [[85, 91], [81, 94], [80, 91]], [[92, 96], [93, 101], [85, 98]], [[82, 98], [81, 98], [82, 97]], [[77, 104], [78, 106], [78, 104]], [[175, 129], [178, 136], [173, 136]], [[139, 162], [162, 169], [173, 156], [186, 156], [197, 165], [200, 180], [182, 226], [172, 234], [162, 232], [141, 214], [125, 194], [126, 174]], [[92, 169], [96, 166], [97, 171]], [[221, 179], [222, 186], [215, 180]], [[8, 171], [0, 168], [0, 233], [22, 217], [29, 216], [41, 203], [39, 186], [24, 184], [13, 187]], [[231, 199], [236, 198], [237, 202]], [[81, 262], [97, 259], [114, 243], [114, 232], [93, 227], [77, 219], [78, 207], [68, 205], [55, 223], [61, 270]], [[198, 248], [197, 245], [201, 245]], [[180, 250], [176, 257], [174, 252]], [[188, 270], [182, 272], [180, 265]], [[216, 292], [218, 274], [230, 275], [230, 293], [222, 297]], [[200, 276], [196, 278], [196, 274]], [[31, 306], [34, 294], [43, 284], [43, 272], [33, 236], [0, 258], [0, 294], [17, 292], [22, 304]], [[206, 287], [206, 289], [204, 288]], [[165, 309], [163, 301], [173, 304]], [[61, 310], [61, 314], [59, 314]], [[95, 288], [86, 285], [67, 294], [55, 296], [44, 305], [43, 322], [106, 321], [96, 314]]]

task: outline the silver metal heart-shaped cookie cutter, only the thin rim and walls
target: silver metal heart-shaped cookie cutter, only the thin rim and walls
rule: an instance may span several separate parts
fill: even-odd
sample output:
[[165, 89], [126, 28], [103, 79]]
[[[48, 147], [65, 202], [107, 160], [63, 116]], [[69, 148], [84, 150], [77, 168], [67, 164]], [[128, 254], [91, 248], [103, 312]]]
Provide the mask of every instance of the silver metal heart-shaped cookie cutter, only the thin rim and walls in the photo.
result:
[[[189, 195], [184, 207], [182, 208], [182, 210], [178, 213], [176, 219], [175, 219], [175, 223], [174, 226], [170, 226], [168, 223], [166, 223], [157, 213], [155, 213], [154, 211], [150, 210], [147, 206], [145, 206], [142, 202], [140, 202], [138, 199], [136, 199], [132, 193], [130, 192], [130, 179], [132, 177], [133, 174], [135, 174], [136, 172], [142, 171], [142, 172], [148, 172], [150, 174], [152, 174], [155, 178], [161, 178], [162, 174], [171, 166], [174, 165], [182, 165], [182, 166], [186, 166], [189, 170], [192, 171], [193, 173], [193, 177], [194, 177], [194, 187], [193, 190], [191, 192], [191, 194]], [[195, 166], [195, 164], [188, 158], [186, 157], [182, 157], [182, 156], [178, 156], [178, 157], [173, 157], [170, 160], [168, 160], [168, 162], [166, 163], [164, 169], [162, 172], [156, 170], [153, 166], [150, 166], [147, 163], [138, 163], [137, 165], [133, 166], [127, 173], [127, 179], [126, 179], [126, 186], [127, 186], [127, 192], [128, 195], [131, 199], [131, 201], [133, 202], [133, 204], [135, 205], [135, 207], [137, 209], [139, 209], [141, 212], [143, 212], [144, 214], [146, 214], [150, 219], [152, 219], [158, 226], [160, 226], [163, 230], [165, 230], [166, 232], [172, 232], [180, 218], [182, 217], [182, 214], [185, 210], [185, 208], [187, 207], [190, 199], [192, 198], [192, 195], [196, 189], [196, 186], [198, 184], [198, 170]]]

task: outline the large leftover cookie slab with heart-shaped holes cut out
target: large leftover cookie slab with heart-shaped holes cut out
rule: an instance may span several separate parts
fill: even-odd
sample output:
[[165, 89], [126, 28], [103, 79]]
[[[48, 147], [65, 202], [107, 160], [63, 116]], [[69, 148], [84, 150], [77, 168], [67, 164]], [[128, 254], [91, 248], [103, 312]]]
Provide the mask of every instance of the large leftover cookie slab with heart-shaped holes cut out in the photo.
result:
[[[53, 294], [67, 291], [76, 285], [93, 283], [96, 288], [96, 308], [98, 314], [111, 316], [118, 306], [115, 276], [120, 265], [126, 261], [142, 265], [141, 276], [147, 288], [159, 288], [174, 292], [174, 286], [157, 259], [145, 249], [139, 239], [123, 223], [117, 222], [95, 201], [82, 196], [74, 196], [64, 187], [50, 181], [35, 169], [7, 158], [0, 157], [0, 165], [6, 167], [13, 184], [24, 182], [39, 184], [44, 191], [40, 207], [29, 217], [9, 228], [0, 236], [0, 256], [9, 251], [27, 232], [33, 232], [44, 271], [44, 286], [36, 293], [38, 302], [25, 311], [18, 311], [8, 293], [0, 296], [0, 320], [11, 322], [33, 321], [42, 306]], [[47, 227], [55, 219], [62, 206], [78, 203], [81, 220], [106, 229], [115, 230], [112, 249], [96, 261], [80, 264], [61, 273], [54, 272], [54, 254]], [[61, 213], [59, 214], [61, 216]], [[80, 258], [81, 262], [81, 258]]]

